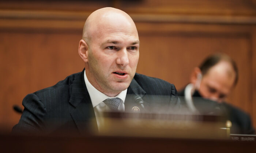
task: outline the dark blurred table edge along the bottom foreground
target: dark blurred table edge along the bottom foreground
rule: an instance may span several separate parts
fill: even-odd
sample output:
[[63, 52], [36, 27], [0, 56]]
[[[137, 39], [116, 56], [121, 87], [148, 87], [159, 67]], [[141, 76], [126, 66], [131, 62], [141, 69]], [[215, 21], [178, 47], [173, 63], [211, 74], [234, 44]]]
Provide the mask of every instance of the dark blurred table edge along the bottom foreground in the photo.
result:
[[1, 152], [256, 152], [256, 142], [150, 137], [0, 135]]

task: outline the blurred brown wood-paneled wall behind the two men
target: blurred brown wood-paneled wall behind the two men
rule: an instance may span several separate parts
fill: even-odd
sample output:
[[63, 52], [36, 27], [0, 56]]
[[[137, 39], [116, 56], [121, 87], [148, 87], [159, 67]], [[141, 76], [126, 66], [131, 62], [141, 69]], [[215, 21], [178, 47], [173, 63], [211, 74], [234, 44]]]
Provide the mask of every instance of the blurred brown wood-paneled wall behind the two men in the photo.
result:
[[[0, 127], [10, 131], [26, 94], [82, 71], [78, 43], [87, 16], [98, 8], [126, 11], [137, 26], [137, 72], [181, 89], [202, 60], [231, 56], [239, 81], [227, 99], [256, 125], [255, 0], [100, 0], [0, 2]], [[256, 126], [255, 126], [256, 127]]]

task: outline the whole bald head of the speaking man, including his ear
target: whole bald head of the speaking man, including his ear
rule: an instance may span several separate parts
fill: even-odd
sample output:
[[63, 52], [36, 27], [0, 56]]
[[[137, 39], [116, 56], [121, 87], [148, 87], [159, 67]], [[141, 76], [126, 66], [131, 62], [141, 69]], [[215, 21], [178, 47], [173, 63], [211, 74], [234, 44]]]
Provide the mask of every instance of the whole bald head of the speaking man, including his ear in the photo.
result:
[[139, 61], [136, 26], [124, 11], [98, 9], [84, 24], [78, 51], [91, 85], [115, 97], [129, 87], [136, 72]]

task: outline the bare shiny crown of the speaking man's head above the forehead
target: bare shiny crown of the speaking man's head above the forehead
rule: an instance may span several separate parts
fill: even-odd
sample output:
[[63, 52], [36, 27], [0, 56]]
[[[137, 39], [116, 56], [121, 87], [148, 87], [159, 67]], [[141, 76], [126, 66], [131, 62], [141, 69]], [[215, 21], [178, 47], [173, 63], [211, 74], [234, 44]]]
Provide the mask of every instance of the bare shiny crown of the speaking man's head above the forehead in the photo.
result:
[[87, 18], [83, 28], [83, 40], [90, 44], [94, 38], [107, 32], [138, 32], [132, 18], [124, 11], [112, 7], [98, 9]]

